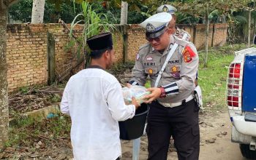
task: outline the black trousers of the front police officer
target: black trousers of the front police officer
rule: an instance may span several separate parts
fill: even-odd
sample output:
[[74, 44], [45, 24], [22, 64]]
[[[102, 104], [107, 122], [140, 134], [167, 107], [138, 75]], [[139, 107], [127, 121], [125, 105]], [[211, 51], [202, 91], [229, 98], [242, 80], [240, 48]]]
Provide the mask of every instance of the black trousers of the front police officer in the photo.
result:
[[195, 100], [174, 108], [152, 102], [146, 127], [148, 159], [166, 160], [170, 137], [173, 136], [178, 159], [197, 160], [200, 148], [198, 111]]

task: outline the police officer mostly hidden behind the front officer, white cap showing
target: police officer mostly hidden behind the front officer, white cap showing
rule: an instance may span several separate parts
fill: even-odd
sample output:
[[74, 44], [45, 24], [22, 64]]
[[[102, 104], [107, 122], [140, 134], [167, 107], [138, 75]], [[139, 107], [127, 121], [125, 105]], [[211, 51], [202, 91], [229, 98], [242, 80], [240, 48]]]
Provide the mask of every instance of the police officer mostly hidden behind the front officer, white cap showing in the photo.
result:
[[[173, 6], [171, 6], [170, 4], [164, 4], [164, 5], [157, 8], [158, 13], [159, 12], [168, 12], [168, 13], [170, 13], [172, 15], [175, 23], [176, 23], [176, 15], [175, 15], [176, 11], [177, 11], [177, 9]], [[175, 25], [175, 23], [174, 23], [174, 25]], [[175, 28], [176, 28], [176, 30], [173, 31], [175, 36], [178, 36], [178, 38], [182, 39], [182, 37], [184, 36], [184, 33], [187, 33], [186, 41], [190, 41], [191, 36], [187, 31], [184, 31], [183, 29], [178, 28], [176, 25], [175, 25]]]

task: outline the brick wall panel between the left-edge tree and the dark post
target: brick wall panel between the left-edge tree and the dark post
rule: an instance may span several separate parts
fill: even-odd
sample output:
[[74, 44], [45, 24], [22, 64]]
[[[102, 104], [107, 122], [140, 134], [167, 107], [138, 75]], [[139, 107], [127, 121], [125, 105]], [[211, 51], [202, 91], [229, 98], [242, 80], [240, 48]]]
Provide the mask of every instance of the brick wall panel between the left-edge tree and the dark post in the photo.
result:
[[47, 82], [45, 25], [7, 25], [9, 92]]

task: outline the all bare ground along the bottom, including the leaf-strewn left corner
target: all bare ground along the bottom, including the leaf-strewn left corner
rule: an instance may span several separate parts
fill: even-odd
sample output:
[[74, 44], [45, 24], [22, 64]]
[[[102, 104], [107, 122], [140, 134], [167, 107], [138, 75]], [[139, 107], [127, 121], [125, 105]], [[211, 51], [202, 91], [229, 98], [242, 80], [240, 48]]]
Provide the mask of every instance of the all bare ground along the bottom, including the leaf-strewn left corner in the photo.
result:
[[[222, 113], [208, 113], [207, 111], [200, 113], [200, 160], [245, 160], [241, 156], [239, 145], [231, 143], [231, 127], [226, 109]], [[69, 140], [64, 140], [70, 143]], [[173, 140], [170, 142], [172, 145], [170, 145], [167, 160], [178, 160]], [[26, 148], [25, 151], [17, 153], [15, 148], [7, 148], [4, 153], [0, 153], [0, 159], [3, 159], [5, 154], [10, 156], [4, 159], [72, 159], [71, 145], [64, 145], [66, 143], [63, 142], [63, 145], [58, 143], [59, 145], [56, 144], [52, 148], [45, 148], [45, 150], [34, 153], [26, 151]], [[147, 137], [143, 135], [140, 141], [140, 160], [147, 159], [147, 145]], [[121, 140], [121, 147], [121, 160], [132, 160], [132, 141]]]

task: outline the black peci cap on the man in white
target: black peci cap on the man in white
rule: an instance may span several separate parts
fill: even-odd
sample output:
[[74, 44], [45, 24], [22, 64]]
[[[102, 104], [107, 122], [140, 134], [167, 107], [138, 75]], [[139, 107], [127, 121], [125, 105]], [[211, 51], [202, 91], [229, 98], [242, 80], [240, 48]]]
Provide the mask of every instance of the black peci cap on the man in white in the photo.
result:
[[113, 46], [111, 33], [100, 33], [87, 39], [87, 44], [91, 50], [106, 49]]

